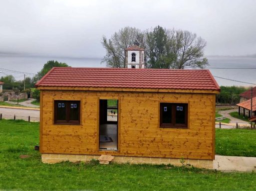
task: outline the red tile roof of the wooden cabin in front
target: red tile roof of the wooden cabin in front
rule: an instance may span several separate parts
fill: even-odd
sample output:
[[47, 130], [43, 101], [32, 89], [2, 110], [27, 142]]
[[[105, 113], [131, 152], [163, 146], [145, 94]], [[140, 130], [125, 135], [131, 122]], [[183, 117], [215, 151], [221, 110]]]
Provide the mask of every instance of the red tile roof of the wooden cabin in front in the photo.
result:
[[36, 86], [220, 91], [209, 70], [59, 67], [52, 68]]

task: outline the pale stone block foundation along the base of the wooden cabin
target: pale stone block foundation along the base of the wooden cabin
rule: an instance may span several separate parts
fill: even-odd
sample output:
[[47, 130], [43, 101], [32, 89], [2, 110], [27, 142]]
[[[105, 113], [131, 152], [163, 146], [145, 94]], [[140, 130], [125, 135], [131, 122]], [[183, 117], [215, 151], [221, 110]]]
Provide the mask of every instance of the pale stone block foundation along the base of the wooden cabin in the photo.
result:
[[[60, 163], [63, 161], [69, 162], [88, 162], [92, 159], [97, 160], [99, 155], [71, 155], [71, 154], [42, 154], [42, 162], [48, 164]], [[184, 164], [190, 164], [198, 168], [213, 169], [213, 160], [201, 160], [201, 159], [184, 159]], [[115, 156], [112, 160], [115, 163], [127, 163], [130, 164], [172, 164], [175, 166], [181, 166], [180, 159], [173, 158], [157, 158], [157, 157], [125, 157]]]

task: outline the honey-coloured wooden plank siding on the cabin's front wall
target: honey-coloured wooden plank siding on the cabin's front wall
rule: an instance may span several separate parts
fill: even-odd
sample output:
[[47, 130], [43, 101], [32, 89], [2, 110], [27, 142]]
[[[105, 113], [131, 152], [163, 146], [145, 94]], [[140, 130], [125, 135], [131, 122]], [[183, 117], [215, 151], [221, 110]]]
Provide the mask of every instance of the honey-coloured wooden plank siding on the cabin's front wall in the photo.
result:
[[[41, 89], [40, 152], [210, 159], [215, 156], [215, 93]], [[118, 151], [99, 151], [99, 99], [118, 99]], [[80, 100], [78, 125], [54, 124], [54, 100]], [[188, 103], [188, 128], [160, 128], [160, 102]]]

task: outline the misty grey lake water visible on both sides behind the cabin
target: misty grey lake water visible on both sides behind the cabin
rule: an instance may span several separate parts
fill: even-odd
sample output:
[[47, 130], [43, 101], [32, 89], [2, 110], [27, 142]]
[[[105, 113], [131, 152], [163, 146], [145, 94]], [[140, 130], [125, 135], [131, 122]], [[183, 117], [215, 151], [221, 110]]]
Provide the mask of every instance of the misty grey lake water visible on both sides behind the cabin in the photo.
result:
[[[48, 60], [65, 62], [72, 67], [105, 67], [99, 58], [58, 58], [58, 57], [35, 57], [0, 55], [0, 76], [11, 74], [16, 80], [22, 80], [22, 74], [11, 73], [2, 69], [14, 70], [19, 72], [37, 73]], [[256, 68], [256, 58], [252, 57], [222, 57], [209, 56], [208, 61], [213, 68]], [[256, 69], [210, 69], [213, 76], [233, 79], [237, 81], [256, 84]], [[31, 76], [30, 76], [31, 77]], [[215, 78], [220, 86], [253, 86], [239, 82]]]

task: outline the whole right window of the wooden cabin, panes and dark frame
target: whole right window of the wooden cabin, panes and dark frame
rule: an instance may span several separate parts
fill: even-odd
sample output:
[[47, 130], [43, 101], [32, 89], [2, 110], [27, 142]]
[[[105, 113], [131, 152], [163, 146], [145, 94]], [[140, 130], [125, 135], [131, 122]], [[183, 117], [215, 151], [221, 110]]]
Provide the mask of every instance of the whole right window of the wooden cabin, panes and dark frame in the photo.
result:
[[188, 103], [160, 103], [160, 127], [188, 128]]

